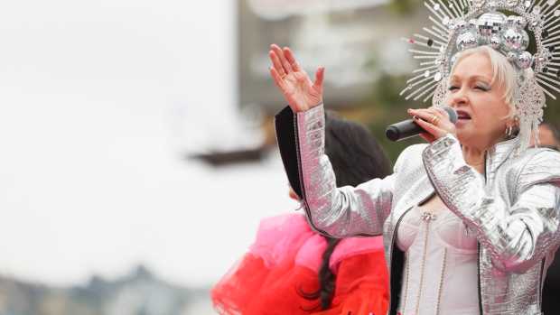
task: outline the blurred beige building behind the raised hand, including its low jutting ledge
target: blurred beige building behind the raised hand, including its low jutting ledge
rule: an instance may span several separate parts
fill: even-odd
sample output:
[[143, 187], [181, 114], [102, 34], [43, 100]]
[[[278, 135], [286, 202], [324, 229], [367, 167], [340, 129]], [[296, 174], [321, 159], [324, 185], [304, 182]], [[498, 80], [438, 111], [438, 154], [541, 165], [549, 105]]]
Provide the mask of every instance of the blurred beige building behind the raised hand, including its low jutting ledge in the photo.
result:
[[[378, 115], [374, 112], [379, 108], [359, 105], [376, 99], [372, 91], [379, 79], [414, 69], [409, 44], [403, 39], [421, 29], [428, 13], [420, 8], [402, 14], [394, 5], [391, 0], [238, 0], [238, 110], [233, 119], [237, 128], [202, 133], [230, 140], [224, 142], [228, 145], [206, 145], [189, 157], [220, 166], [258, 162], [275, 148], [272, 117], [285, 107], [285, 100], [268, 70], [271, 43], [291, 47], [312, 79], [319, 66], [325, 67], [324, 98], [329, 109], [363, 123]], [[199, 125], [198, 129], [205, 128]]]

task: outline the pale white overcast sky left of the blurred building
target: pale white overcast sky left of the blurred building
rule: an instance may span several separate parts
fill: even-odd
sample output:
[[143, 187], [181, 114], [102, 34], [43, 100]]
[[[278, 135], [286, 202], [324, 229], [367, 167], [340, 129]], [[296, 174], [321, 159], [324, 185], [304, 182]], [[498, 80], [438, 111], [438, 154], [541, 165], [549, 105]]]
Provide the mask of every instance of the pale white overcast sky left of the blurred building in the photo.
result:
[[234, 26], [224, 0], [0, 5], [1, 274], [83, 283], [142, 262], [208, 284], [260, 218], [296, 208], [277, 154], [183, 160], [238, 134]]

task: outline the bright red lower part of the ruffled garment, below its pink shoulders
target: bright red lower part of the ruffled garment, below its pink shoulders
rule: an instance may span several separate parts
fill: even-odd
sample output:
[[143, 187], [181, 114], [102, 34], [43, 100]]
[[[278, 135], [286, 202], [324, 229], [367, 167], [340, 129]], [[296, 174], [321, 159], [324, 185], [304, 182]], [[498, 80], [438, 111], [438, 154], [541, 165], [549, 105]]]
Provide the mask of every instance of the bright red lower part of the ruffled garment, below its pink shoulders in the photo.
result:
[[247, 254], [234, 273], [212, 290], [220, 314], [243, 315], [385, 315], [388, 277], [383, 252], [350, 257], [339, 265], [331, 309], [315, 308], [297, 292], [319, 289], [317, 273], [294, 264], [267, 269], [263, 260]]

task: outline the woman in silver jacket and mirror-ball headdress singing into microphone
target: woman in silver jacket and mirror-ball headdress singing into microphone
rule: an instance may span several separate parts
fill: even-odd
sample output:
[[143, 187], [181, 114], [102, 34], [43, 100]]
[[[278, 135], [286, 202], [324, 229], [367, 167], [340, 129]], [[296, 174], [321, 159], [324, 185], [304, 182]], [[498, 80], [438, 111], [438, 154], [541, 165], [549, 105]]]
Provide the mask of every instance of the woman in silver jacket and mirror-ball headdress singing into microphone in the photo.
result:
[[[501, 32], [525, 32], [525, 20], [497, 13], [495, 3], [477, 3], [467, 15], [478, 21], [448, 20], [448, 40], [457, 41], [458, 51], [455, 42], [423, 42], [441, 52], [425, 75], [436, 82], [435, 106], [408, 114], [429, 144], [409, 146], [392, 175], [356, 187], [336, 187], [323, 153], [324, 69], [312, 81], [289, 48], [271, 46], [270, 73], [289, 104], [275, 124], [292, 187], [322, 234], [383, 235], [391, 315], [542, 311], [542, 283], [560, 244], [560, 153], [528, 148], [528, 139], [544, 106], [538, 62], [548, 60], [527, 64], [522, 46], [516, 51], [511, 42], [496, 44], [494, 38], [509, 39]], [[524, 19], [534, 16], [518, 2], [497, 3]], [[501, 26], [479, 27], [489, 20], [484, 10]], [[532, 30], [538, 41], [544, 37], [537, 26]], [[537, 46], [536, 55], [544, 53], [546, 45]], [[456, 110], [456, 125], [443, 104]]]

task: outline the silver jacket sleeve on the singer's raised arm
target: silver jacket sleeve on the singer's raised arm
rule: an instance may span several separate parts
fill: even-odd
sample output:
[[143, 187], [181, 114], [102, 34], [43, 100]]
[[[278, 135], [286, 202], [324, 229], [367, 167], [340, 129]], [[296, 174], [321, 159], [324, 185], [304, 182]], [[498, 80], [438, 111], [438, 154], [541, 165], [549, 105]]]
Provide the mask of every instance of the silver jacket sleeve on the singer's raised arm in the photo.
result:
[[322, 105], [296, 115], [303, 200], [312, 227], [334, 237], [381, 235], [391, 209], [395, 175], [337, 189], [324, 154]]

